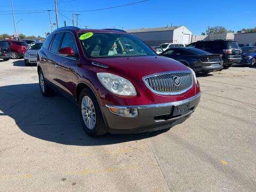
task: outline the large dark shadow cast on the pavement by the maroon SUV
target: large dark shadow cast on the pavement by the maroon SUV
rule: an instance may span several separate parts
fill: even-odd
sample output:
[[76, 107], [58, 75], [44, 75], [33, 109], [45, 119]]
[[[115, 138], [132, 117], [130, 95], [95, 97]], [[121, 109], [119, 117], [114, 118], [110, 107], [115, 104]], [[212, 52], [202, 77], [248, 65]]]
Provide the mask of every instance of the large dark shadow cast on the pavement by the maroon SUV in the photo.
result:
[[[43, 97], [37, 83], [1, 86], [0, 116], [3, 115], [13, 118], [28, 135], [63, 145], [111, 145], [154, 137], [166, 131], [89, 137], [81, 126], [76, 104], [58, 92], [53, 97]], [[10, 126], [13, 124], [7, 122], [6, 129]]]

